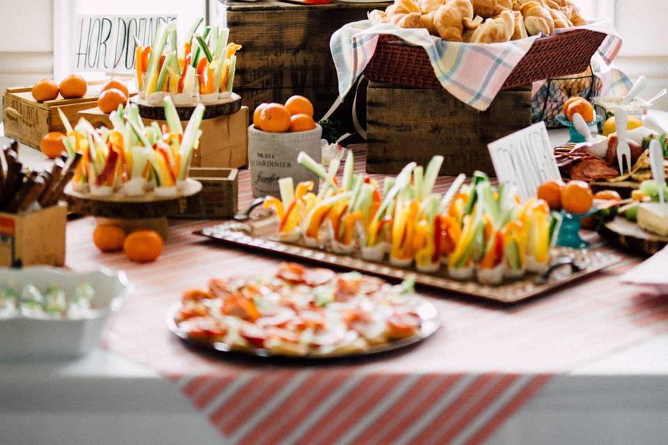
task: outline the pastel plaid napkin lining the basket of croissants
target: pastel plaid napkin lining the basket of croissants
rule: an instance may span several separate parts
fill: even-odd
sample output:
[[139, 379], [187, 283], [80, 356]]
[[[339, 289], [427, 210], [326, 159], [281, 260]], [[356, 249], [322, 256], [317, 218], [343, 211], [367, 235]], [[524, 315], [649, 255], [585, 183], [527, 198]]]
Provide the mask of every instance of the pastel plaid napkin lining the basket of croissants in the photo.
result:
[[[599, 54], [610, 63], [621, 47], [621, 38], [608, 20], [599, 20], [578, 29], [607, 34]], [[571, 29], [557, 29], [556, 33]], [[379, 34], [396, 35], [408, 44], [427, 51], [436, 78], [448, 92], [462, 102], [486, 110], [507, 77], [527, 54], [538, 35], [491, 44], [445, 42], [429, 35], [426, 29], [402, 29], [393, 24], [372, 25], [369, 20], [352, 22], [337, 30], [330, 48], [339, 79], [339, 94], [347, 95], [376, 51]]]

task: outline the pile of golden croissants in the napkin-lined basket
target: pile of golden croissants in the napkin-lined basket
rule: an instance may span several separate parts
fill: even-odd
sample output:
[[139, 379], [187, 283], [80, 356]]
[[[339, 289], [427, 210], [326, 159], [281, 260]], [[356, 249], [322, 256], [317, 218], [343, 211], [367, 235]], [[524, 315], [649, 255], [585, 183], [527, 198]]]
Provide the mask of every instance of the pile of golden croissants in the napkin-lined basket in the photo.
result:
[[572, 0], [395, 0], [369, 19], [470, 43], [508, 42], [587, 24]]

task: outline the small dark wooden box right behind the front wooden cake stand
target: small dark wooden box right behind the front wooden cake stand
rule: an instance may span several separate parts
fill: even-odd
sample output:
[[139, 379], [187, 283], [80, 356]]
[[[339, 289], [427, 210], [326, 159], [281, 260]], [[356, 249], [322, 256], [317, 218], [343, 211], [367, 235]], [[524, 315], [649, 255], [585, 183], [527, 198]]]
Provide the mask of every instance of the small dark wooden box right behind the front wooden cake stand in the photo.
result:
[[182, 216], [232, 218], [237, 213], [238, 173], [236, 168], [191, 168], [189, 176], [202, 183], [202, 191], [188, 198]]

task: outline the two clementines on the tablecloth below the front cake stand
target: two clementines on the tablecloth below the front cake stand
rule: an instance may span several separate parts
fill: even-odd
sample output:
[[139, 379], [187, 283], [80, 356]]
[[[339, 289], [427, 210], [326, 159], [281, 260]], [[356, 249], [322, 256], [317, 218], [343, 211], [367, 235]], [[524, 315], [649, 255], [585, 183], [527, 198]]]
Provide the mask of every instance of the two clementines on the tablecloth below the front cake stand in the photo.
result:
[[155, 261], [164, 244], [154, 230], [139, 230], [126, 236], [122, 227], [113, 224], [98, 225], [93, 232], [93, 243], [102, 252], [118, 252], [122, 249], [128, 259], [137, 263]]

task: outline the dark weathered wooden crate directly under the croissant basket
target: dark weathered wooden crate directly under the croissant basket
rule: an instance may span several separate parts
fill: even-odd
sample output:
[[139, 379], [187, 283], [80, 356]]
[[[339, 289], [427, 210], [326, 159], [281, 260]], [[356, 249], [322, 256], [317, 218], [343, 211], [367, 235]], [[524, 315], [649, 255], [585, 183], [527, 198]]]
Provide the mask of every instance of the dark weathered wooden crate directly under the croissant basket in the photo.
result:
[[367, 172], [397, 173], [411, 161], [445, 157], [441, 175], [493, 174], [487, 144], [531, 124], [531, 89], [501, 91], [477, 111], [446, 90], [369, 83]]

